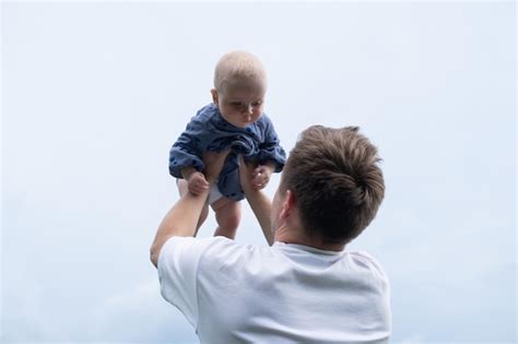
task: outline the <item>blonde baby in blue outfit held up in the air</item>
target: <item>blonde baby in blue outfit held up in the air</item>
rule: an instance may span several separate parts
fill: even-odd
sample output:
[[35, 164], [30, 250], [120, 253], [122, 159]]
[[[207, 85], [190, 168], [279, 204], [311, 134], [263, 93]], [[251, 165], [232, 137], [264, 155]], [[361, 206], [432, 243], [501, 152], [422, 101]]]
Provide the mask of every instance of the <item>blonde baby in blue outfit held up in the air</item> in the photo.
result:
[[[224, 55], [214, 71], [212, 102], [198, 110], [169, 153], [169, 173], [178, 178], [180, 195], [196, 195], [209, 188], [203, 175], [204, 152], [229, 150], [223, 169], [211, 187], [208, 203], [215, 213], [214, 236], [234, 239], [240, 221], [239, 201], [245, 198], [238, 170], [238, 155], [257, 165], [252, 175], [256, 190], [262, 189], [272, 173], [282, 170], [284, 150], [270, 119], [262, 112], [267, 75], [261, 61], [251, 54]], [[205, 205], [198, 228], [205, 221]]]

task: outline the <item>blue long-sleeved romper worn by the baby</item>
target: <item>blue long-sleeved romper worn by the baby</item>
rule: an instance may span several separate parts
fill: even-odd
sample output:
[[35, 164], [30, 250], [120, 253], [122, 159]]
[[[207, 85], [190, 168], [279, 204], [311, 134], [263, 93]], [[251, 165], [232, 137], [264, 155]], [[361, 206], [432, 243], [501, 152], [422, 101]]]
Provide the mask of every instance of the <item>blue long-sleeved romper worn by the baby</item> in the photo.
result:
[[275, 173], [284, 167], [286, 153], [280, 145], [273, 124], [266, 114], [254, 123], [238, 128], [227, 122], [217, 106], [209, 104], [201, 108], [187, 124], [169, 152], [169, 174], [181, 177], [181, 169], [188, 166], [202, 171], [202, 154], [205, 151], [221, 152], [232, 147], [217, 179], [217, 189], [229, 199], [240, 201], [245, 198], [239, 182], [242, 154], [245, 162], [257, 161], [275, 163]]

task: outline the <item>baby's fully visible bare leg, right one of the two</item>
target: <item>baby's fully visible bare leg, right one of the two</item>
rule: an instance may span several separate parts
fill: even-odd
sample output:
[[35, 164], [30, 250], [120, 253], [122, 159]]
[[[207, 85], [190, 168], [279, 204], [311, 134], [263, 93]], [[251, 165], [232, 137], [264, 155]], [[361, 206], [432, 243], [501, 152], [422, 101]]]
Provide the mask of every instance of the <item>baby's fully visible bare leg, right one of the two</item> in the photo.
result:
[[242, 218], [240, 203], [223, 197], [212, 203], [212, 210], [215, 213], [217, 222], [214, 236], [224, 236], [228, 239], [234, 239]]

